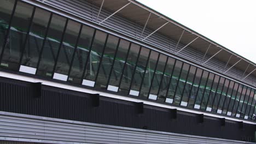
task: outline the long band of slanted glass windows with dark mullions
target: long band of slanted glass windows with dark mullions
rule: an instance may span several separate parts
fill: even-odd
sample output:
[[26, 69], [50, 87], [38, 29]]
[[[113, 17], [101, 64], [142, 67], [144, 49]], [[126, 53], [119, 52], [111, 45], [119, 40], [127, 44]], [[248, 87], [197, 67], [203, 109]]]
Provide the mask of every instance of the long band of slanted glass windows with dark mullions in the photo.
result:
[[0, 5], [0, 68], [255, 121], [255, 88], [25, 2]]

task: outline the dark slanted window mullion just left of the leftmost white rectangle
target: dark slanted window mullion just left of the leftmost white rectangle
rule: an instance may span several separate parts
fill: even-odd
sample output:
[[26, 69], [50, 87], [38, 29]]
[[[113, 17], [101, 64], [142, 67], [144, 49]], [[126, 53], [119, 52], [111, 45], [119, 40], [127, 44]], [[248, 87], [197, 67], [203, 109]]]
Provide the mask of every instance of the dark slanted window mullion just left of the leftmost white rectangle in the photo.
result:
[[21, 46], [21, 56], [20, 56], [20, 60], [19, 60], [19, 63], [18, 63], [19, 68], [20, 68], [20, 65], [21, 65], [22, 58], [24, 56], [24, 51], [25, 51], [25, 48], [26, 48], [27, 39], [30, 37], [30, 30], [31, 30], [31, 26], [32, 26], [32, 23], [33, 23], [35, 12], [36, 12], [36, 7], [33, 7], [32, 15], [31, 15], [31, 19], [30, 19], [30, 24], [28, 25], [27, 34], [26, 34], [26, 37], [24, 39], [24, 44], [22, 44], [22, 46]]

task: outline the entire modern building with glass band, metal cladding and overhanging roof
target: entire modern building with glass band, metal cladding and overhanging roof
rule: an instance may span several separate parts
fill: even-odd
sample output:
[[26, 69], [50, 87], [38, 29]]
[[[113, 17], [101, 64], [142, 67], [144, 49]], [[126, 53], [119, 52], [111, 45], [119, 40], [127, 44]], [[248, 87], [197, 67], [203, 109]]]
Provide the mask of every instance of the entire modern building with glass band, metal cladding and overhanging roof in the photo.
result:
[[0, 143], [253, 143], [255, 63], [133, 0], [3, 0]]

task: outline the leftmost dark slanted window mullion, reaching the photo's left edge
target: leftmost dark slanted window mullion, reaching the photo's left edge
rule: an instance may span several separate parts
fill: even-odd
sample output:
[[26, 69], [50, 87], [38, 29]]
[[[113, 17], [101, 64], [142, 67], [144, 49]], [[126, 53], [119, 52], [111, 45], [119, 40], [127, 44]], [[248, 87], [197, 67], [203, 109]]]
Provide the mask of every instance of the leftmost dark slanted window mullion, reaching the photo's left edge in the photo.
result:
[[4, 49], [5, 49], [5, 46], [6, 46], [6, 43], [7, 43], [7, 39], [9, 37], [10, 27], [11, 27], [11, 23], [13, 22], [13, 16], [14, 16], [15, 11], [16, 11], [17, 3], [18, 3], [18, 0], [15, 0], [14, 5], [13, 5], [13, 11], [11, 12], [10, 19], [9, 19], [9, 25], [8, 25], [8, 28], [7, 28], [5, 37], [4, 37], [4, 41], [3, 41], [3, 47], [2, 47], [2, 51], [1, 51], [1, 55], [0, 55], [0, 63], [2, 62]]

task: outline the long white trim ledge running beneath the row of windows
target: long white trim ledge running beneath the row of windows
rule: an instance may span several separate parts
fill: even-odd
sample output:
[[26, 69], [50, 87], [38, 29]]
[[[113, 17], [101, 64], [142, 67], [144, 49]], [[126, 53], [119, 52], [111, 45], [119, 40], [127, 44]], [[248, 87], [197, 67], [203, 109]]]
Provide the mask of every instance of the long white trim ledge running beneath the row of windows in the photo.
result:
[[[185, 111], [185, 112], [203, 114], [205, 116], [210, 116], [210, 117], [226, 118], [226, 119], [229, 119], [231, 121], [237, 121], [237, 122], [241, 121], [241, 119], [236, 119], [236, 118], [232, 118], [232, 117], [219, 116], [219, 115], [215, 115], [213, 113], [207, 113], [207, 112], [200, 112], [200, 111], [196, 111], [196, 110], [184, 109], [182, 107], [172, 106], [172, 105], [168, 105], [168, 104], [155, 103], [154, 101], [148, 101], [148, 100], [141, 100], [141, 99], [137, 99], [137, 98], [125, 97], [125, 96], [121, 96], [121, 95], [117, 95], [117, 94], [111, 94], [111, 93], [107, 93], [107, 92], [96, 91], [96, 90], [93, 90], [93, 89], [71, 86], [71, 85], [63, 84], [63, 83], [59, 83], [59, 82], [52, 82], [52, 81], [41, 80], [41, 79], [37, 79], [37, 78], [34, 78], [34, 77], [29, 77], [29, 76], [11, 74], [11, 73], [7, 73], [7, 72], [4, 72], [4, 71], [0, 71], [0, 76], [7, 77], [7, 78], [10, 78], [10, 79], [15, 79], [15, 80], [27, 81], [27, 82], [41, 82], [42, 85], [45, 85], [45, 86], [64, 88], [64, 89], [69, 89], [69, 90], [77, 91], [77, 92], [91, 93], [91, 94], [98, 93], [103, 97], [133, 101], [133, 102], [136, 102], [136, 103], [142, 102], [146, 105], [159, 106], [159, 107], [164, 107], [164, 108], [167, 108], [167, 109], [177, 109], [178, 111]], [[170, 103], [172, 101], [173, 101], [173, 99], [166, 98], [166, 103], [168, 103], [168, 102]], [[244, 123], [256, 124], [255, 122], [246, 121], [245, 119], [242, 119], [242, 121]]]

